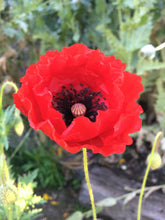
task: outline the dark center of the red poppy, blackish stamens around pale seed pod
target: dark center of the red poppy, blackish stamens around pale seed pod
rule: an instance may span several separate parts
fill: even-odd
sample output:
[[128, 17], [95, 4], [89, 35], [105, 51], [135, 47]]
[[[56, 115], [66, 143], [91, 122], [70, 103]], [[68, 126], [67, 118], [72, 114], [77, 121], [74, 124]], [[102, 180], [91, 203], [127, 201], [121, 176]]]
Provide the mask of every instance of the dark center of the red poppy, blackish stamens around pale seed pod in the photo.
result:
[[78, 91], [70, 84], [69, 88], [62, 86], [60, 92], [53, 93], [52, 105], [62, 113], [62, 118], [68, 127], [75, 117], [82, 115], [95, 122], [97, 111], [107, 110], [105, 100], [100, 91], [93, 92], [90, 87], [84, 87], [82, 83]]

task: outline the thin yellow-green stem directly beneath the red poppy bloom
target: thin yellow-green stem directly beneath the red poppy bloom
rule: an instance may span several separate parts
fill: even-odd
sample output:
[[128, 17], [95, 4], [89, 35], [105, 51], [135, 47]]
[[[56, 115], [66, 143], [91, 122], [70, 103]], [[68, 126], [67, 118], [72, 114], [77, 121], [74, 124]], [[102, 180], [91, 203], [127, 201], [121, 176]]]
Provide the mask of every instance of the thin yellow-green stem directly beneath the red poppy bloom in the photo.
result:
[[92, 191], [90, 180], [89, 180], [88, 161], [87, 161], [87, 149], [86, 148], [83, 148], [83, 159], [84, 159], [85, 179], [86, 179], [86, 182], [87, 182], [89, 196], [90, 196], [91, 205], [92, 205], [92, 211], [93, 211], [93, 220], [97, 220], [94, 196], [93, 196], [93, 191]]

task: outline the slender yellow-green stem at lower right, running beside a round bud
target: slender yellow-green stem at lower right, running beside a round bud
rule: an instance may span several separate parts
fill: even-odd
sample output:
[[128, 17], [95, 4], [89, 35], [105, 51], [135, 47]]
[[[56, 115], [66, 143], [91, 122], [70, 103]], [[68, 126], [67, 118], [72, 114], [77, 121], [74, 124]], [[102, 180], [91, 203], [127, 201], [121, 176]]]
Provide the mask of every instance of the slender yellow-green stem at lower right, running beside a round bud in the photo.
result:
[[140, 220], [140, 218], [141, 218], [141, 206], [142, 206], [142, 199], [143, 199], [143, 194], [144, 194], [144, 190], [145, 190], [145, 185], [146, 185], [147, 177], [148, 177], [149, 170], [150, 170], [150, 167], [151, 167], [153, 154], [154, 154], [155, 148], [158, 146], [158, 144], [160, 142], [161, 136], [162, 136], [162, 133], [158, 132], [156, 137], [155, 137], [154, 143], [153, 143], [153, 147], [152, 147], [152, 150], [151, 150], [151, 157], [150, 157], [150, 160], [148, 162], [148, 166], [147, 166], [144, 178], [143, 178], [143, 183], [142, 183], [141, 192], [140, 192], [140, 196], [139, 196], [137, 220]]

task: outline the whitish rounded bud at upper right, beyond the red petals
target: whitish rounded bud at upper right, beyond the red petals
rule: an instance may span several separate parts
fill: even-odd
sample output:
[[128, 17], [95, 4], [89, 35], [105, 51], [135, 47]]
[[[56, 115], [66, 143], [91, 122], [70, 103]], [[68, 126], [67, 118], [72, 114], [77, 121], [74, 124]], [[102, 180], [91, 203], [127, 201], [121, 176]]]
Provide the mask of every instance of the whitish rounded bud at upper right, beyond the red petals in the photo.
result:
[[139, 55], [152, 60], [156, 56], [156, 48], [152, 44], [147, 44], [141, 48]]

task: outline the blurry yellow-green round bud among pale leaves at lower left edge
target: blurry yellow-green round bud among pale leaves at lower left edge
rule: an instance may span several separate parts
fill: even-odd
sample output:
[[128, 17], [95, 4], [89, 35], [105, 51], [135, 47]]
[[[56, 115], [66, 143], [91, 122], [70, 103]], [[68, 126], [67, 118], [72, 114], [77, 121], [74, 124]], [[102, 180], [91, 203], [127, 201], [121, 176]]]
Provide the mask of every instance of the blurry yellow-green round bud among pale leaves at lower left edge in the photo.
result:
[[0, 186], [0, 201], [3, 204], [11, 204], [17, 200], [17, 188], [12, 184]]

